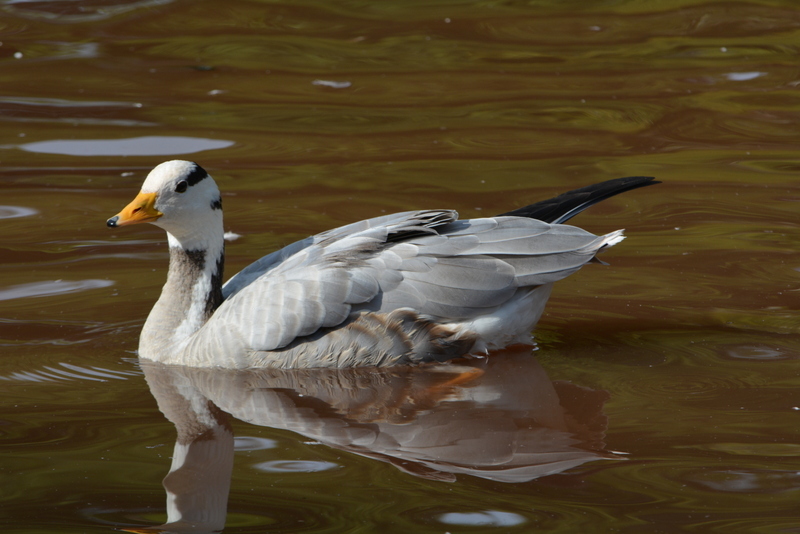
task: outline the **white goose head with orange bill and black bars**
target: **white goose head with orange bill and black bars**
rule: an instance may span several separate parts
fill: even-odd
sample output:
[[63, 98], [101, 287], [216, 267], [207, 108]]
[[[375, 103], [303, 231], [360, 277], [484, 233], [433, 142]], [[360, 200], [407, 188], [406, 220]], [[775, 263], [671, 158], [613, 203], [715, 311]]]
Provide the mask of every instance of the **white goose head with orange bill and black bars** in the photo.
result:
[[214, 179], [191, 161], [167, 161], [147, 175], [133, 201], [106, 224], [115, 228], [152, 223], [167, 231], [170, 245], [206, 248], [222, 236], [222, 201]]

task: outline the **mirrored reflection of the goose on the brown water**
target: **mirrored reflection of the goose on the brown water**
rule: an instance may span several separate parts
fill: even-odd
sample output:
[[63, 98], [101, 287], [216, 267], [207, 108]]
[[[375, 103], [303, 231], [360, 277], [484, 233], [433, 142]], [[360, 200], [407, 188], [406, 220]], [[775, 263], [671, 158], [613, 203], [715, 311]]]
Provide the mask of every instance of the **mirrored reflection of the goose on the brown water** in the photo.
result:
[[551, 381], [530, 348], [419, 367], [141, 363], [178, 437], [164, 479], [167, 523], [132, 532], [224, 527], [234, 453], [228, 414], [448, 482], [469, 475], [521, 483], [614, 457], [603, 443], [608, 394]]

